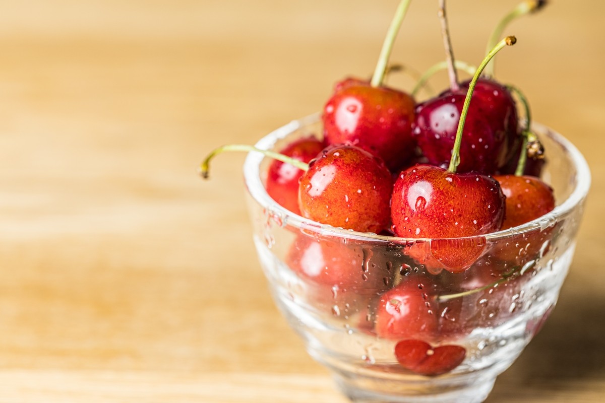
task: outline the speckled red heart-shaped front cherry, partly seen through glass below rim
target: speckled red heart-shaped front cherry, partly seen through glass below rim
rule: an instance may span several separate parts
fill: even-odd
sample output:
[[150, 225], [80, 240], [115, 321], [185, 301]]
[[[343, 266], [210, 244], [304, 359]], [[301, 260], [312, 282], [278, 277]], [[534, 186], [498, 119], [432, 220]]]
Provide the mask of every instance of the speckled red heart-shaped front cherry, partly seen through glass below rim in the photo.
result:
[[[397, 236], [441, 238], [417, 242], [406, 253], [428, 269], [463, 271], [485, 247], [475, 237], [500, 230], [505, 197], [497, 181], [479, 173], [452, 173], [417, 165], [399, 175], [391, 198], [391, 219]], [[443, 239], [445, 238], [445, 239]], [[426, 250], [430, 248], [430, 250]]]

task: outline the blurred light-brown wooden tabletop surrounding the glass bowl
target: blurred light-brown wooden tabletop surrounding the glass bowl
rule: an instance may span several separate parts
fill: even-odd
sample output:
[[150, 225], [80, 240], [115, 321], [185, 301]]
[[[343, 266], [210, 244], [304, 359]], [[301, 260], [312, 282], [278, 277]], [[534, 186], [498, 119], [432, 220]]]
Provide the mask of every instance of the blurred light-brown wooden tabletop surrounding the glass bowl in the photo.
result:
[[[479, 63], [516, 3], [452, 1], [456, 55]], [[489, 403], [605, 399], [605, 6], [553, 3], [514, 23], [497, 74], [585, 153], [593, 185], [560, 304]], [[270, 300], [243, 155], [217, 159], [209, 182], [195, 169], [212, 147], [252, 143], [318, 111], [336, 80], [370, 74], [396, 4], [3, 7], [0, 401], [344, 402]], [[436, 4], [412, 4], [395, 62], [422, 71], [443, 58]]]

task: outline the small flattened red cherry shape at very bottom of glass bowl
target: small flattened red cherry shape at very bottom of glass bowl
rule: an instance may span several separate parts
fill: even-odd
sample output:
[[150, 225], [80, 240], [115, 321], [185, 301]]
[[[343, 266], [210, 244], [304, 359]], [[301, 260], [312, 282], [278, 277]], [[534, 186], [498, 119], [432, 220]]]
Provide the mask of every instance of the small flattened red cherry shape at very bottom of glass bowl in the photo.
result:
[[395, 356], [399, 364], [411, 372], [436, 376], [448, 373], [462, 364], [466, 349], [451, 344], [432, 347], [421, 340], [402, 340], [395, 346]]

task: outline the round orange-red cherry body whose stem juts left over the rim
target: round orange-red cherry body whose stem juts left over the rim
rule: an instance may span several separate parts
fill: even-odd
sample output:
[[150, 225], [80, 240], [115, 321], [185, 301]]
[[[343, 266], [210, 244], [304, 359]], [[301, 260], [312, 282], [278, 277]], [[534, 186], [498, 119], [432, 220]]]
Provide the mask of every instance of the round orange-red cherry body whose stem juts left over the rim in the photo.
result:
[[378, 233], [388, 227], [392, 190], [380, 158], [355, 146], [331, 146], [301, 176], [299, 207], [322, 224]]

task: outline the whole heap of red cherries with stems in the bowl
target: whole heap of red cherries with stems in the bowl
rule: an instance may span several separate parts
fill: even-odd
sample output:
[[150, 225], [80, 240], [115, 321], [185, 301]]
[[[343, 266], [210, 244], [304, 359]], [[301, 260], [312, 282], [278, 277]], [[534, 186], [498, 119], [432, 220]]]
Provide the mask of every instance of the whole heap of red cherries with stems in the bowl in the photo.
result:
[[[510, 301], [520, 286], [506, 281], [516, 270], [482, 265], [485, 244], [477, 236], [522, 225], [555, 205], [551, 187], [539, 178], [544, 155], [531, 132], [528, 103], [517, 88], [493, 78], [491, 62], [516, 41], [512, 36], [497, 40], [506, 24], [545, 2], [523, 1], [507, 15], [494, 30], [483, 62], [470, 68], [473, 79], [459, 82], [457, 66], [468, 65], [454, 60], [441, 0], [446, 62], [439, 65], [448, 70], [450, 88], [423, 102], [416, 101], [416, 90], [407, 94], [383, 83], [409, 2], [402, 0], [397, 8], [371, 80], [349, 77], [336, 83], [323, 109], [322, 138], [300, 138], [280, 153], [269, 153], [276, 160], [266, 189], [283, 207], [321, 224], [393, 236], [396, 245], [405, 238], [405, 247], [393, 253], [403, 250], [425, 271], [413, 271], [394, 256], [370, 259], [361, 247], [317, 242], [306, 234], [298, 234], [286, 260], [318, 286], [316, 305], [325, 303], [337, 316], [339, 306], [356, 312], [362, 318], [359, 329], [397, 341], [394, 355], [405, 369], [434, 376], [465, 359], [463, 347], [443, 341], [488, 322], [480, 312], [468, 311], [463, 298], [440, 297], [444, 290], [456, 284], [462, 294], [473, 290], [475, 303], [489, 301], [492, 311], [508, 312], [509, 303], [500, 307], [500, 301]], [[522, 123], [515, 97], [525, 109]], [[221, 151], [226, 149], [252, 147]], [[204, 161], [204, 173], [215, 153]], [[491, 251], [490, 259], [518, 268], [520, 254], [537, 254], [548, 234], [531, 236], [535, 239], [525, 239], [531, 247], [503, 247]], [[457, 239], [454, 247], [451, 239]], [[400, 262], [396, 276], [393, 262]], [[494, 281], [502, 286], [491, 288]], [[364, 293], [372, 302], [356, 306]]]

